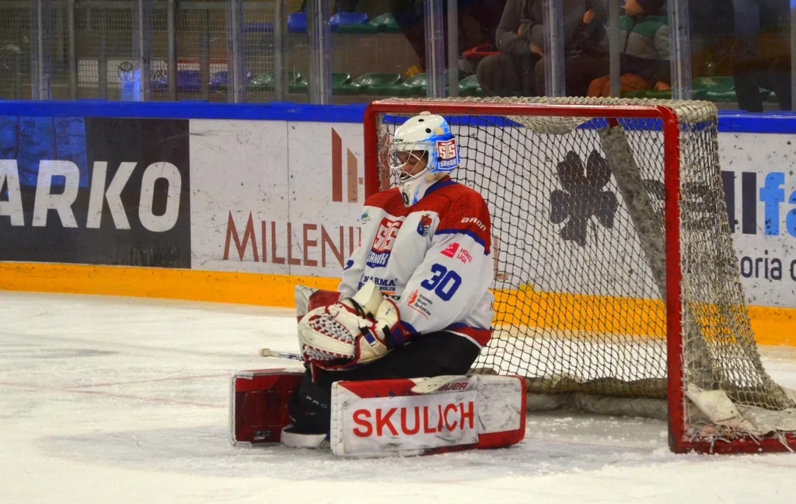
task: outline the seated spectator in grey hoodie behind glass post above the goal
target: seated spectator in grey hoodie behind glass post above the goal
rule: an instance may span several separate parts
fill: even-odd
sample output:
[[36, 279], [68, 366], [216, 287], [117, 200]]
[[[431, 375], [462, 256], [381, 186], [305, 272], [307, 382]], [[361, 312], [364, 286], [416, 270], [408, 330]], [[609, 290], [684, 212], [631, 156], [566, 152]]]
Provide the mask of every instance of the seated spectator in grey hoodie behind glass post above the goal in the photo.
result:
[[[564, 80], [568, 96], [586, 96], [592, 80], [608, 71], [602, 1], [564, 0]], [[544, 96], [542, 0], [509, 0], [497, 26], [500, 55], [478, 65], [478, 82], [491, 95]], [[592, 23], [597, 23], [590, 29]], [[596, 29], [595, 29], [596, 28]]]

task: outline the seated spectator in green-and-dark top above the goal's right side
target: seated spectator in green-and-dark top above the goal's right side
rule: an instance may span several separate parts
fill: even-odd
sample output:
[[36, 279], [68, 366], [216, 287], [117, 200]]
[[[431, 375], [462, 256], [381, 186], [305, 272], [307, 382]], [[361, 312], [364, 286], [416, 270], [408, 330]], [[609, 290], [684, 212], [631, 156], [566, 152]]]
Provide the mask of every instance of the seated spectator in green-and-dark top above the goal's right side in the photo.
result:
[[[669, 18], [665, 0], [626, 0], [619, 18], [620, 88], [641, 91], [671, 89]], [[611, 96], [611, 76], [591, 81], [588, 96]]]

